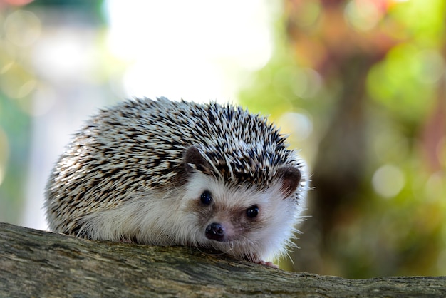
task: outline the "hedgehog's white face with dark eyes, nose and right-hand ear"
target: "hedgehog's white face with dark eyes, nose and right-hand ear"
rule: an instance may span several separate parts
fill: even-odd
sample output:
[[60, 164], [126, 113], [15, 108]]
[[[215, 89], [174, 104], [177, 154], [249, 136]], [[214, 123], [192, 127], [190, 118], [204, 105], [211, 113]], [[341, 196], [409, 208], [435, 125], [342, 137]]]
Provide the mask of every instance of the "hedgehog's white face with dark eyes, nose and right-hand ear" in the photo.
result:
[[[196, 165], [197, 156], [189, 161]], [[284, 253], [301, 208], [299, 170], [279, 169], [269, 187], [237, 185], [199, 170], [189, 175], [181, 209], [190, 215], [190, 243], [251, 261]]]

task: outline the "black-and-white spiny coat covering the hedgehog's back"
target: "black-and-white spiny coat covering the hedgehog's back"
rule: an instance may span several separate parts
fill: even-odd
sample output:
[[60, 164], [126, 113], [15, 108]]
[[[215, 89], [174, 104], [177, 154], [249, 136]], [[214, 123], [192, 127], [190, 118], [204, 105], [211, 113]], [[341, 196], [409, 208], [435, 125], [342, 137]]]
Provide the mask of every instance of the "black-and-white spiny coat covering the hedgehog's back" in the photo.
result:
[[100, 111], [75, 135], [48, 183], [48, 205], [55, 198], [78, 208], [118, 205], [124, 193], [171, 187], [192, 145], [211, 165], [204, 171], [229, 183], [266, 186], [277, 168], [299, 166], [260, 115], [229, 104], [137, 98]]

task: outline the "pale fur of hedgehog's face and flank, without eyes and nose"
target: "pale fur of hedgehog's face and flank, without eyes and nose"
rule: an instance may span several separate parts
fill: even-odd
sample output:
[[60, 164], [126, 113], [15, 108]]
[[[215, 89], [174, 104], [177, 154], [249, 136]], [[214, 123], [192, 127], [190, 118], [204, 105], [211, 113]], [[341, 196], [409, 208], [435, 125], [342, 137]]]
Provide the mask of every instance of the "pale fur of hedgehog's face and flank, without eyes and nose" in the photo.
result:
[[[212, 194], [209, 206], [200, 204], [205, 190]], [[192, 173], [184, 187], [165, 194], [150, 190], [130, 194], [125, 201], [119, 207], [85, 217], [82, 230], [93, 239], [132, 241], [134, 237], [148, 245], [212, 247], [254, 262], [286, 252], [304, 205], [284, 197], [280, 181], [266, 190], [256, 190], [228, 187], [202, 173]], [[251, 220], [246, 210], [253, 205], [259, 207], [259, 214]], [[205, 230], [212, 222], [224, 225], [229, 241], [207, 239]]]

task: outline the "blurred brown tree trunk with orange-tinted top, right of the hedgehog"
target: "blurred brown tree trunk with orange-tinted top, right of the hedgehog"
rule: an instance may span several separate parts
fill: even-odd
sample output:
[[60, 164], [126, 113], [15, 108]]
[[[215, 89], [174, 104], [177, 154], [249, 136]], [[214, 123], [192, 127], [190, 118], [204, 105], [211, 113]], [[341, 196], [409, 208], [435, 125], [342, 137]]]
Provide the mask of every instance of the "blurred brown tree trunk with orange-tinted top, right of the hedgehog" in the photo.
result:
[[343, 272], [343, 266], [339, 266], [343, 249], [333, 242], [333, 232], [358, 216], [358, 206], [365, 199], [361, 194], [365, 193], [370, 148], [366, 80], [370, 68], [385, 57], [395, 41], [380, 31], [361, 34], [353, 30], [346, 21], [346, 1], [321, 1], [321, 14], [312, 27], [299, 26], [301, 11], [311, 1], [285, 2], [289, 9], [287, 36], [298, 61], [311, 63], [331, 91], [321, 103], [331, 106], [325, 109], [329, 111], [323, 118], [326, 130], [311, 169], [311, 219], [302, 227], [306, 244], [299, 252], [305, 257], [296, 257], [294, 267]]

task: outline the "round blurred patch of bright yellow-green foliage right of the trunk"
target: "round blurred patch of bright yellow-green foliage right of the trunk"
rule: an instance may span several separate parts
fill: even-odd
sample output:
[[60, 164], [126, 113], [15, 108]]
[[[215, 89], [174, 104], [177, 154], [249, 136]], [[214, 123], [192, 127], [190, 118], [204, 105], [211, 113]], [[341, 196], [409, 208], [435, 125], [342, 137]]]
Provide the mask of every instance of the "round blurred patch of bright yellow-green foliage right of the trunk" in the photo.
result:
[[437, 73], [438, 80], [442, 60], [433, 51], [423, 54], [412, 43], [400, 44], [370, 70], [367, 82], [370, 98], [400, 120], [418, 122], [432, 109], [435, 89], [430, 81], [435, 78], [427, 76]]

